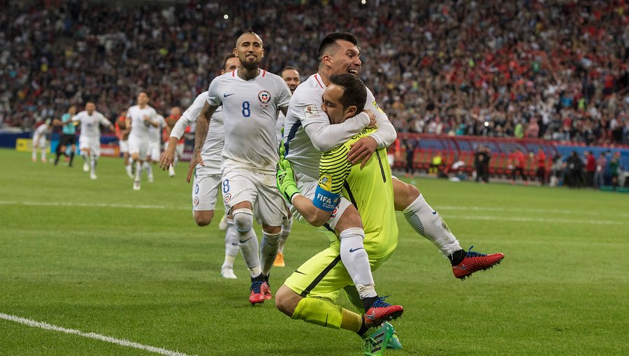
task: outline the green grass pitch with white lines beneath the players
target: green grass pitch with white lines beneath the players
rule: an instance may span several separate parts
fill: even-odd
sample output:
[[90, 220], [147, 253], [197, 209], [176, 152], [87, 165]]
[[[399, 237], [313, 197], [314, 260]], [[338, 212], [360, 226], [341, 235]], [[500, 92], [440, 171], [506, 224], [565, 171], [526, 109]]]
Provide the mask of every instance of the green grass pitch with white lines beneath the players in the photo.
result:
[[[238, 279], [220, 277], [222, 212], [194, 225], [187, 163], [133, 191], [121, 159], [101, 158], [95, 181], [75, 161], [0, 150], [0, 313], [186, 355], [361, 355], [352, 333], [250, 306], [240, 255]], [[398, 250], [375, 272], [405, 307], [393, 322], [404, 348], [386, 355], [629, 354], [629, 195], [414, 184], [463, 247], [506, 258], [458, 281], [398, 213]], [[272, 290], [326, 241], [295, 223]], [[0, 355], [157, 354], [0, 318]]]

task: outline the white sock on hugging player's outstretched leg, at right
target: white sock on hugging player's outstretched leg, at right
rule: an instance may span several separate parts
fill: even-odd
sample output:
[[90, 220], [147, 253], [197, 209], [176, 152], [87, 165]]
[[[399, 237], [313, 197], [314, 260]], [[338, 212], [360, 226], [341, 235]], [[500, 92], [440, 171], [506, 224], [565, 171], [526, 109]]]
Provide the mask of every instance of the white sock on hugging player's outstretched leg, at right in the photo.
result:
[[445, 256], [461, 250], [458, 240], [446, 225], [441, 216], [428, 205], [424, 195], [419, 195], [402, 212], [406, 221], [419, 235], [426, 237], [437, 246]]

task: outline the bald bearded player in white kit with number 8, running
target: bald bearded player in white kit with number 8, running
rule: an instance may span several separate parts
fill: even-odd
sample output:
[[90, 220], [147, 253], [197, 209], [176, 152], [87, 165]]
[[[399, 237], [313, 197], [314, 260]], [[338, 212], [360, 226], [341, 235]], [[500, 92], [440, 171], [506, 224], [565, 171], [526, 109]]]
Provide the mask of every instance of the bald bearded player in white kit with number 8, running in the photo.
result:
[[[225, 144], [222, 151], [222, 189], [225, 205], [238, 230], [240, 252], [250, 270], [249, 302], [271, 297], [268, 273], [273, 267], [286, 209], [275, 184], [277, 112], [286, 112], [291, 92], [282, 78], [259, 68], [264, 56], [261, 38], [253, 31], [240, 35], [233, 49], [240, 59], [238, 71], [216, 77], [208, 89], [208, 101], [196, 124], [195, 155], [188, 181], [211, 127], [210, 118], [222, 105]], [[254, 214], [262, 223], [263, 238], [253, 230]]]

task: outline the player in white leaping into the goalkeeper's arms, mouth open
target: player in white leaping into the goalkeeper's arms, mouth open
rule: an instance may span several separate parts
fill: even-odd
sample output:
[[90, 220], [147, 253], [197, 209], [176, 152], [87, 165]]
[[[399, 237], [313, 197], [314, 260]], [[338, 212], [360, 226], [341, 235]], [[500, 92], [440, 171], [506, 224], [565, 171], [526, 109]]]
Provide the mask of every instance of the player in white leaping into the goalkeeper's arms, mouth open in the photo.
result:
[[[284, 149], [286, 158], [293, 165], [299, 188], [308, 198], [315, 198], [318, 178], [316, 167], [320, 151], [327, 151], [338, 146], [368, 125], [367, 118], [361, 114], [342, 124], [331, 125], [326, 115], [319, 111], [322, 105], [321, 94], [329, 84], [331, 75], [342, 73], [358, 75], [361, 60], [357, 44], [356, 38], [351, 34], [328, 34], [319, 46], [318, 73], [303, 82], [291, 98], [284, 128], [286, 142]], [[348, 155], [348, 161], [352, 163], [366, 163], [375, 149], [388, 147], [396, 139], [393, 126], [377, 105], [369, 89], [365, 107], [371, 108], [376, 115], [378, 130], [366, 138], [361, 138], [352, 146]], [[428, 205], [419, 190], [395, 177], [391, 179], [396, 210], [402, 211], [412, 228], [419, 235], [431, 240], [449, 258], [456, 278], [465, 278], [480, 269], [487, 269], [504, 258], [502, 253], [483, 255], [471, 251], [471, 248], [468, 253], [465, 253], [441, 216]], [[362, 248], [364, 233], [359, 229], [361, 225], [359, 216], [342, 214], [345, 209], [344, 205], [347, 205], [347, 202], [342, 200], [337, 214], [333, 215], [328, 224], [340, 235], [342, 261], [352, 276], [364, 303], [376, 295], [373, 289], [373, 277], [368, 269], [368, 255], [350, 252]], [[348, 233], [348, 231], [353, 233]], [[348, 295], [352, 293], [351, 289], [346, 288], [346, 291]], [[352, 298], [355, 299], [354, 296], [350, 296], [350, 299]]]

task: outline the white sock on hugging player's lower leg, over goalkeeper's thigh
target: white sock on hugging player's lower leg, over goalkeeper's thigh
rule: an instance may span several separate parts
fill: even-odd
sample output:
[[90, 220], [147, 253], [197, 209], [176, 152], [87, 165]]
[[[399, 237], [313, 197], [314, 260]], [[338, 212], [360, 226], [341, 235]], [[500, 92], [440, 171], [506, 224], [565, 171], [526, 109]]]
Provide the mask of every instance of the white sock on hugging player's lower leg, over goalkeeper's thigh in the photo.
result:
[[356, 285], [361, 299], [377, 297], [369, 255], [363, 246], [365, 232], [361, 228], [343, 230], [340, 235], [340, 255], [345, 269]]

